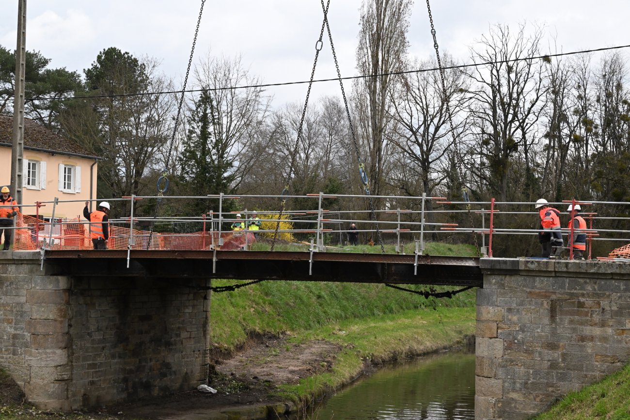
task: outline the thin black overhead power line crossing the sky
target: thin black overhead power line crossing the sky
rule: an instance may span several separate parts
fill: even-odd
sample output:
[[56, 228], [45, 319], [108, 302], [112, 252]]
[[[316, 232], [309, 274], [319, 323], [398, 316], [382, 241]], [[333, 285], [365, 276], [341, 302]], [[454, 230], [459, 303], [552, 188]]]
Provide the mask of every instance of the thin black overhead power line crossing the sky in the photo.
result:
[[[571, 51], [571, 52], [559, 52], [558, 54], [543, 54], [543, 55], [534, 55], [532, 57], [522, 57], [510, 60], [498, 60], [498, 61], [483, 61], [483, 62], [474, 62], [469, 64], [457, 64], [455, 66], [442, 66], [443, 70], [449, 69], [464, 69], [466, 67], [479, 67], [479, 66], [488, 66], [489, 64], [503, 64], [508, 62], [517, 62], [517, 61], [528, 61], [528, 60], [539, 60], [539, 59], [551, 59], [553, 57], [564, 57], [566, 55], [576, 55], [576, 54], [588, 54], [590, 52], [601, 52], [601, 51], [610, 51], [610, 50], [619, 50], [624, 48], [629, 48], [630, 45], [618, 45], [616, 47], [604, 47], [604, 48], [596, 48], [592, 50], [580, 50], [580, 51]], [[379, 73], [379, 74], [365, 74], [360, 76], [346, 76], [341, 78], [341, 80], [354, 80], [354, 79], [365, 79], [365, 78], [375, 78], [381, 76], [395, 76], [398, 74], [411, 74], [411, 73], [425, 73], [427, 71], [440, 71], [440, 67], [431, 67], [428, 69], [415, 69], [415, 70], [406, 70], [406, 71], [396, 71], [392, 73]], [[304, 85], [306, 83], [318, 83], [318, 82], [329, 82], [336, 81], [338, 82], [339, 78], [331, 78], [331, 79], [314, 79], [312, 82], [309, 80], [301, 80], [301, 81], [292, 81], [292, 82], [281, 82], [281, 83], [265, 83], [262, 85], [243, 85], [243, 86], [230, 86], [227, 88], [201, 88], [201, 89], [188, 89], [188, 90], [167, 90], [167, 91], [158, 91], [158, 92], [140, 92], [140, 93], [119, 93], [112, 95], [86, 95], [86, 96], [63, 96], [62, 98], [55, 98], [50, 96], [39, 96], [36, 98], [30, 98], [29, 101], [38, 101], [38, 100], [66, 100], [66, 99], [88, 99], [88, 98], [120, 98], [124, 96], [144, 96], [144, 95], [169, 95], [174, 93], [195, 93], [195, 92], [203, 92], [203, 91], [220, 91], [220, 90], [236, 90], [236, 89], [249, 89], [249, 88], [269, 88], [273, 86], [290, 86], [290, 85]], [[9, 97], [10, 98], [10, 97]], [[7, 98], [2, 98], [1, 100], [6, 100]]]

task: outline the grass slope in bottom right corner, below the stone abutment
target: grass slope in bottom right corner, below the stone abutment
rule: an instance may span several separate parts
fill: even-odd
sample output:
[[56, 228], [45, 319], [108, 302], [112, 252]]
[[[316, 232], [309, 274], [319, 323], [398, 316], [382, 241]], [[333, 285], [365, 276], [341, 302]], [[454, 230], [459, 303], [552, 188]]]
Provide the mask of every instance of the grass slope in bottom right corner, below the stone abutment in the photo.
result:
[[532, 420], [630, 419], [630, 365], [602, 382], [571, 392]]

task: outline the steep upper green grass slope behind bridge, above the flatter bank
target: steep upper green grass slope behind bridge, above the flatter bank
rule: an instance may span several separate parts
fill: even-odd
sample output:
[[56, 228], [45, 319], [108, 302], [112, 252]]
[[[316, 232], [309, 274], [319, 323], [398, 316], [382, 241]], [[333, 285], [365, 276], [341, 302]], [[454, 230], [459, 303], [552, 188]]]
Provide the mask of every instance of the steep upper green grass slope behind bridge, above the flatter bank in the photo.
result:
[[[409, 245], [413, 247], [413, 244]], [[362, 247], [359, 245], [353, 248]], [[380, 247], [367, 248], [380, 252]], [[432, 255], [474, 254], [471, 245], [427, 243], [427, 250]], [[215, 280], [212, 286], [238, 283]], [[429, 289], [429, 286], [402, 286], [416, 291]], [[434, 286], [434, 289], [445, 291], [456, 288]], [[423, 296], [394, 290], [384, 284], [265, 281], [232, 292], [212, 294], [210, 341], [217, 349], [232, 351], [246, 342], [252, 333], [305, 332], [344, 320], [432, 309], [437, 305], [473, 307], [474, 304], [474, 289], [455, 295], [452, 299], [427, 300]]]

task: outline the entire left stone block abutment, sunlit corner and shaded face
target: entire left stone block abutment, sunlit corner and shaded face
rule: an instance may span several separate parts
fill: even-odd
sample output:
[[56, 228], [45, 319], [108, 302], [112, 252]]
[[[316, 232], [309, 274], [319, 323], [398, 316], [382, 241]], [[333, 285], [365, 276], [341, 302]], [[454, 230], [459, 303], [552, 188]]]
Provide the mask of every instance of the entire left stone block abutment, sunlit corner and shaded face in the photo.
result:
[[0, 255], [0, 366], [42, 409], [192, 390], [207, 379], [201, 279], [55, 276], [38, 252]]

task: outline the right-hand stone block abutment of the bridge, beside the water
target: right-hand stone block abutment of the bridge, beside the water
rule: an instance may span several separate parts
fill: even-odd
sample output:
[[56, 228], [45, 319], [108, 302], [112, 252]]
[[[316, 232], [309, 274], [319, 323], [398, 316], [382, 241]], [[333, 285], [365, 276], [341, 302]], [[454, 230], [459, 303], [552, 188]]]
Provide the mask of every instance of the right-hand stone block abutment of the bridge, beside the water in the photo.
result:
[[482, 259], [478, 420], [527, 419], [630, 359], [630, 264]]

